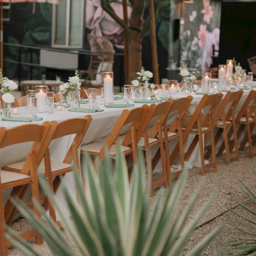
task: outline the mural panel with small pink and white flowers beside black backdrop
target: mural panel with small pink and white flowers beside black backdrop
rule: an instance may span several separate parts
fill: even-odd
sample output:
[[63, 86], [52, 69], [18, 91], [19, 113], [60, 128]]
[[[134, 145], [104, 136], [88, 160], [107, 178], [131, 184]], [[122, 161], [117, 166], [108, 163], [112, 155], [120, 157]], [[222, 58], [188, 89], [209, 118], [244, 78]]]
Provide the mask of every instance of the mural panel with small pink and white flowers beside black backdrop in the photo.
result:
[[[207, 70], [219, 51], [221, 1], [198, 0], [184, 5], [181, 59], [190, 68]], [[216, 52], [218, 54], [218, 52]]]

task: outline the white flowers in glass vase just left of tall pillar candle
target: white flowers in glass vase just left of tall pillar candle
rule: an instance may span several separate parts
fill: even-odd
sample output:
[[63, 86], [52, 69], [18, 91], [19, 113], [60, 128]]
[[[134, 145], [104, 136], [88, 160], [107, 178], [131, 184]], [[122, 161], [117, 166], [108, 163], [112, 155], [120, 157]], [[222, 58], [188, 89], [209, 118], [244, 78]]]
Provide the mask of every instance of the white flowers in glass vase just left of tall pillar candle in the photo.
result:
[[[60, 105], [63, 109], [68, 109], [70, 106], [79, 108], [80, 87], [80, 78], [78, 71], [76, 70], [75, 76], [69, 77], [68, 82], [59, 86], [59, 92], [63, 95], [63, 99], [60, 101]], [[75, 93], [75, 99], [73, 97], [68, 99], [69, 93], [71, 92]]]

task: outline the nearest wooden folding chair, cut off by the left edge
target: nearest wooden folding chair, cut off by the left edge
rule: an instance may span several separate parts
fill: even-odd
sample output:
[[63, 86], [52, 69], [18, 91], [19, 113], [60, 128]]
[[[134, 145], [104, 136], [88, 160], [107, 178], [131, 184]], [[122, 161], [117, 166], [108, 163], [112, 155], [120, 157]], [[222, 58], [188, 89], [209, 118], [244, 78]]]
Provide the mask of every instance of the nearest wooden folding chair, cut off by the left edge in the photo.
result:
[[[10, 145], [15, 145], [24, 142], [34, 142], [28, 157], [23, 162], [23, 166], [15, 172], [15, 170], [7, 171], [4, 168], [1, 169], [1, 179], [0, 179], [0, 250], [1, 255], [8, 254], [8, 247], [10, 243], [5, 238], [5, 223], [8, 214], [12, 210], [10, 207], [10, 200], [8, 200], [6, 207], [4, 207], [2, 189], [13, 188], [11, 196], [15, 198], [17, 196], [19, 199], [23, 199], [27, 188], [31, 185], [32, 197], [39, 202], [39, 190], [37, 181], [37, 161], [38, 154], [44, 154], [41, 146], [47, 140], [47, 135], [49, 134], [51, 124], [45, 122], [42, 125], [37, 124], [27, 124], [22, 126], [17, 126], [12, 129], [6, 129], [5, 127], [0, 127], [0, 148], [4, 148]], [[44, 146], [43, 146], [44, 147]], [[42, 150], [42, 151], [41, 151]], [[21, 189], [21, 188], [26, 189]], [[20, 193], [21, 192], [21, 193]], [[11, 204], [12, 205], [12, 204]], [[12, 205], [13, 206], [13, 205]], [[13, 206], [14, 207], [14, 206]], [[34, 214], [40, 218], [40, 213], [37, 210], [35, 204], [33, 204]], [[8, 220], [8, 218], [7, 218]], [[10, 222], [7, 222], [10, 224]], [[42, 240], [38, 237], [35, 230], [30, 230], [25, 233], [19, 234], [24, 239], [31, 239], [36, 237], [36, 243], [41, 244]]]

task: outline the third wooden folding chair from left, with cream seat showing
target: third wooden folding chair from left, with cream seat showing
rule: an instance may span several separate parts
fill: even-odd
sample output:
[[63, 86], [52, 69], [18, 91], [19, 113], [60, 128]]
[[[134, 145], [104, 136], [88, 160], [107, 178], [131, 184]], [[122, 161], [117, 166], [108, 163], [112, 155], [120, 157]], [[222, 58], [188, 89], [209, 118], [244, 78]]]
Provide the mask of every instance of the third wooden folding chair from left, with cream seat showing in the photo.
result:
[[[103, 161], [106, 154], [115, 159], [117, 146], [120, 143], [124, 156], [132, 155], [135, 164], [137, 161], [136, 131], [147, 109], [148, 106], [143, 105], [141, 108], [123, 110], [105, 142], [93, 142], [81, 146], [81, 154], [88, 153], [90, 156], [96, 156], [94, 164], [96, 164], [97, 158], [99, 161]], [[127, 133], [123, 140], [120, 138], [119, 141], [119, 135], [124, 126], [126, 126]]]

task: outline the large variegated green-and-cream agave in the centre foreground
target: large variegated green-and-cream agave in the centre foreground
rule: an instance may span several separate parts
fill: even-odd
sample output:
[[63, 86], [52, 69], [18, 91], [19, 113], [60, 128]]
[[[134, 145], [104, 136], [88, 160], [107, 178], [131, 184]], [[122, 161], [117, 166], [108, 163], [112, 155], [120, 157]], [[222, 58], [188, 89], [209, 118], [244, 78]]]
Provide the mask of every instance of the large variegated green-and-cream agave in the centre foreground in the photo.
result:
[[[142, 159], [140, 154], [139, 159]], [[35, 218], [31, 209], [23, 202], [15, 203], [22, 215], [44, 239], [53, 255], [180, 255], [215, 197], [212, 195], [196, 217], [185, 225], [200, 191], [198, 188], [187, 206], [175, 217], [174, 212], [186, 183], [186, 171], [176, 186], [172, 190], [168, 189], [167, 196], [163, 196], [166, 192], [164, 189], [159, 191], [155, 206], [150, 211], [150, 190], [145, 181], [143, 161], [138, 161], [139, 164], [134, 167], [130, 180], [120, 149], [115, 166], [106, 158], [102, 164], [97, 165], [95, 172], [89, 157], [86, 157], [84, 162], [84, 183], [74, 172], [78, 200], [73, 200], [64, 180], [60, 187], [65, 194], [71, 218], [50, 192], [46, 179], [39, 176], [39, 182], [56, 207], [70, 242], [41, 205], [37, 204], [37, 208], [49, 227]], [[222, 225], [211, 231], [186, 255], [198, 255], [221, 227]], [[40, 255], [11, 228], [8, 228], [8, 231], [16, 239], [10, 235], [7, 235], [7, 238], [20, 251], [26, 255]]]

